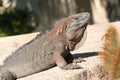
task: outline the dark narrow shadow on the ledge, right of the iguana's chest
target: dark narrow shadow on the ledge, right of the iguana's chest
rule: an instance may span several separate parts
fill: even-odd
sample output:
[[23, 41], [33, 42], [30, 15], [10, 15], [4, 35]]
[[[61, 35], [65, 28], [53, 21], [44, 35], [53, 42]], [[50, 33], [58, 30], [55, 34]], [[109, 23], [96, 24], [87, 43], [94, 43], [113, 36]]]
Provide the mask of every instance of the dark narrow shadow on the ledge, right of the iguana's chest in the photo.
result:
[[78, 57], [86, 58], [86, 57], [96, 56], [96, 55], [98, 55], [98, 53], [99, 52], [75, 53], [75, 54], [73, 54], [73, 56], [74, 56], [74, 58], [78, 58]]

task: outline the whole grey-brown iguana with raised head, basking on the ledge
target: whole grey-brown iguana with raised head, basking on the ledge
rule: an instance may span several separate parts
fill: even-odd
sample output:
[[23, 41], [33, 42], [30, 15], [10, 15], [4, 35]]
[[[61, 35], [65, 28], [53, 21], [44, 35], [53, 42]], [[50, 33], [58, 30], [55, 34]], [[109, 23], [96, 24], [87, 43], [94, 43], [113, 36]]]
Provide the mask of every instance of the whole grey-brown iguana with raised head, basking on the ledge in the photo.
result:
[[4, 60], [0, 80], [16, 80], [55, 65], [65, 70], [81, 68], [72, 64], [70, 51], [81, 42], [89, 20], [90, 14], [84, 12], [58, 21], [49, 33], [39, 34]]

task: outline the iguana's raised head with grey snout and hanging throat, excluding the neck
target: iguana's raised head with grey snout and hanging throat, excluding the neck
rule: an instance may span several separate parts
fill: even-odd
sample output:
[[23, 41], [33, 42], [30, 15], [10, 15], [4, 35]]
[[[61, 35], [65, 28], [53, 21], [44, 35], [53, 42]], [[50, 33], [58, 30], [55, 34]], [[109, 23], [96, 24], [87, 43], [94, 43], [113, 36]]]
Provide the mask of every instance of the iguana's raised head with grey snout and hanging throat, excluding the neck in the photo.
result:
[[76, 44], [82, 40], [89, 20], [90, 14], [87, 12], [66, 18], [65, 35], [69, 43], [69, 50], [73, 50]]

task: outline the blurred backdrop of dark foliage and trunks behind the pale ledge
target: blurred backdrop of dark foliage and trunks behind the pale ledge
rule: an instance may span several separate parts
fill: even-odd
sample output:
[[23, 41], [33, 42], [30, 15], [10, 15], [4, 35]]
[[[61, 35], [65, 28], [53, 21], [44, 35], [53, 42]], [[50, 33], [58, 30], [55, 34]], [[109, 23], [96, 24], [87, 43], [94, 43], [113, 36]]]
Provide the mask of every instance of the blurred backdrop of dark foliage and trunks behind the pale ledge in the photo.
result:
[[0, 0], [0, 37], [46, 31], [64, 17], [90, 12], [90, 24], [120, 20], [120, 0]]

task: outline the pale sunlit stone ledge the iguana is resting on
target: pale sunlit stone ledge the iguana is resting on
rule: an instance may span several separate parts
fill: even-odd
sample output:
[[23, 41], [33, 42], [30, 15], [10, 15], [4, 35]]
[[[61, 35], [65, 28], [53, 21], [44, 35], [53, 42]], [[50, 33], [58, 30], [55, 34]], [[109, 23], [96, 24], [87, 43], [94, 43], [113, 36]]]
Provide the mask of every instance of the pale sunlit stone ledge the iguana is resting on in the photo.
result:
[[[58, 67], [48, 69], [18, 80], [106, 80], [102, 61], [97, 55], [103, 45], [103, 35], [109, 25], [120, 29], [120, 22], [89, 25], [87, 40], [82, 47], [73, 51], [74, 57], [83, 57], [86, 62], [78, 63], [83, 69], [61, 70]], [[0, 64], [16, 48], [33, 39], [38, 33], [0, 38]]]

